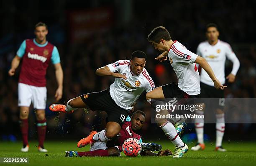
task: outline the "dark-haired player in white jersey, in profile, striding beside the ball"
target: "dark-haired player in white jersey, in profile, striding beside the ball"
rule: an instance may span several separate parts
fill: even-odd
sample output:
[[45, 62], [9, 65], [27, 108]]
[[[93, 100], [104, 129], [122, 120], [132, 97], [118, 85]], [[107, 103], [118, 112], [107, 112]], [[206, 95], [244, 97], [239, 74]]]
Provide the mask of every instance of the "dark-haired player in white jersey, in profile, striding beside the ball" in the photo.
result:
[[[200, 66], [205, 69], [214, 82], [216, 89], [224, 89], [226, 87], [215, 77], [210, 65], [204, 58], [187, 50], [186, 47], [178, 41], [172, 41], [169, 32], [163, 26], [154, 28], [148, 35], [148, 41], [154, 45], [155, 49], [162, 52], [162, 54], [155, 59], [165, 61], [168, 56], [178, 78], [178, 84], [167, 84], [148, 92], [146, 94], [148, 102], [151, 102], [151, 99], [159, 98], [197, 98], [200, 94], [200, 78], [195, 63], [200, 64]], [[173, 158], [182, 157], [183, 154], [187, 152], [188, 146], [179, 138], [174, 125], [166, 119], [155, 118], [155, 120], [176, 147]]]

